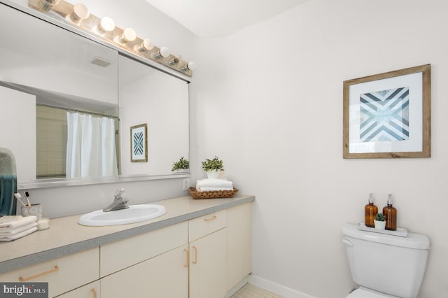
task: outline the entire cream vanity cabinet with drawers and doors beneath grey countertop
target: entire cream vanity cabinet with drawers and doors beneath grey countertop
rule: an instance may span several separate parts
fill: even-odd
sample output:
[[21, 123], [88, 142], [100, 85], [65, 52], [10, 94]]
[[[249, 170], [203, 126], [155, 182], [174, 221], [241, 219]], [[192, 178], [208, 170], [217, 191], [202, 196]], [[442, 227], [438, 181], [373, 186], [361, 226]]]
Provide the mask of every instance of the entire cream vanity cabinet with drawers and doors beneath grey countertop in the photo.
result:
[[251, 207], [248, 201], [172, 225], [155, 222], [151, 232], [131, 227], [116, 232], [121, 240], [0, 274], [0, 281], [48, 282], [50, 298], [227, 297], [251, 273]]

